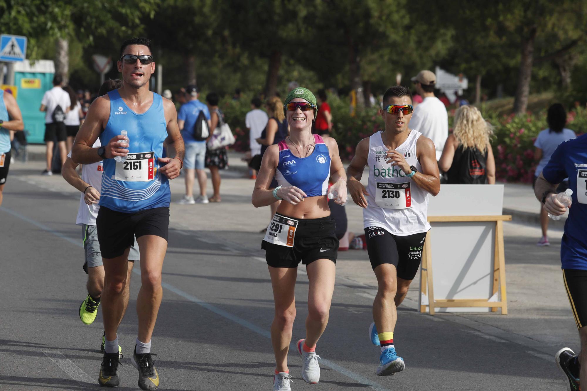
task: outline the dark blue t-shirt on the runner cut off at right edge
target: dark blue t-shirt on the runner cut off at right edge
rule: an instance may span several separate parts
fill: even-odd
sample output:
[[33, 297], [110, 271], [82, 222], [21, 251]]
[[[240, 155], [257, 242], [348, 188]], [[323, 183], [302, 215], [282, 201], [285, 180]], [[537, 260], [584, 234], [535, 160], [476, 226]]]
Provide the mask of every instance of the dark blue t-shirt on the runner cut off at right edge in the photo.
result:
[[569, 178], [573, 202], [561, 241], [562, 268], [587, 270], [587, 134], [560, 144], [542, 176], [553, 184]]

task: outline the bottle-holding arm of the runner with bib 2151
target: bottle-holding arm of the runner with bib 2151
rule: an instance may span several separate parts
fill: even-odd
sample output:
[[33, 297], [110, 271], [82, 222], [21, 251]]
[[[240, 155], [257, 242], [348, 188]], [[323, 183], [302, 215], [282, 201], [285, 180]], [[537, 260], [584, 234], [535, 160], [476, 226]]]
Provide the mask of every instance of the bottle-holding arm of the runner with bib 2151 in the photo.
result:
[[[86, 120], [72, 147], [72, 160], [77, 164], [92, 164], [102, 160], [98, 155], [98, 149], [92, 148], [104, 125], [108, 123], [110, 117], [110, 99], [107, 96], [97, 97], [87, 111]], [[106, 149], [106, 159], [112, 159], [114, 156], [126, 156], [129, 144], [118, 143], [118, 140], [128, 140], [124, 136], [114, 136], [103, 147]]]

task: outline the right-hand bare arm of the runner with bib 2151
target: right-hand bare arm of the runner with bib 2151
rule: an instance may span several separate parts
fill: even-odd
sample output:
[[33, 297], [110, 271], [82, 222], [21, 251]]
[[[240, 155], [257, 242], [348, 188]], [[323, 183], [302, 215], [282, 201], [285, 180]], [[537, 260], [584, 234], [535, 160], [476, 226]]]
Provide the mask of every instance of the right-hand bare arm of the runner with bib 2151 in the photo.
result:
[[160, 168], [160, 171], [169, 179], [173, 179], [180, 174], [181, 166], [183, 166], [185, 146], [177, 125], [176, 106], [173, 105], [171, 100], [163, 98], [163, 109], [167, 120], [167, 139], [165, 139], [165, 144], [168, 157], [159, 158], [161, 163], [166, 163], [165, 166]]

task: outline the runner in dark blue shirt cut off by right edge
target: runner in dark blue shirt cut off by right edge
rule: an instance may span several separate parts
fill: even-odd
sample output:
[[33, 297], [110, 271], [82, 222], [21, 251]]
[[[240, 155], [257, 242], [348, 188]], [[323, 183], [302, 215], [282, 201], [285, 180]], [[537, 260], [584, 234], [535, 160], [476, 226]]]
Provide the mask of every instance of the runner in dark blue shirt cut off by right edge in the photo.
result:
[[555, 360], [568, 378], [569, 389], [575, 391], [579, 379], [587, 379], [587, 328], [583, 327], [587, 324], [587, 135], [560, 144], [538, 177], [534, 193], [552, 215], [566, 211], [555, 189], [567, 177], [573, 195], [561, 242], [562, 277], [579, 329], [581, 353], [563, 348]]

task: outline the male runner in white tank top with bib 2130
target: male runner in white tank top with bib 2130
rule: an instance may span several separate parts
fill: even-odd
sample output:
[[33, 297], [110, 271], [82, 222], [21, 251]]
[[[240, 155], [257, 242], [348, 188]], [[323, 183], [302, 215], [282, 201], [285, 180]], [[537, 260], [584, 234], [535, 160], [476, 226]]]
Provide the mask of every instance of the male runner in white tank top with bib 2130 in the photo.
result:
[[[426, 232], [428, 195], [440, 191], [434, 143], [410, 130], [410, 90], [393, 86], [383, 95], [385, 132], [359, 141], [347, 170], [349, 194], [363, 209], [369, 260], [377, 277], [371, 341], [381, 345], [377, 375], [405, 368], [393, 345], [397, 311], [406, 297], [420, 260]], [[367, 188], [360, 183], [369, 165]], [[377, 332], [379, 331], [379, 333]]]

